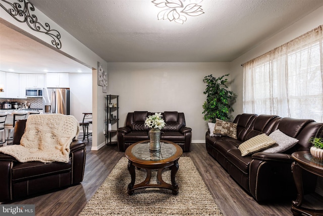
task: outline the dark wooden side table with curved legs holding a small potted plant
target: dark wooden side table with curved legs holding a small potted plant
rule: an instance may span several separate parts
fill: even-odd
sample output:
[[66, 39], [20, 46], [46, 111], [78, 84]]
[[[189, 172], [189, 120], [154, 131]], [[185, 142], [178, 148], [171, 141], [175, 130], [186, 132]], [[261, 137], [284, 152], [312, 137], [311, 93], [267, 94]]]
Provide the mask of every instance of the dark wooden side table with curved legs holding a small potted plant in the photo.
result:
[[304, 197], [302, 171], [303, 169], [314, 175], [323, 177], [323, 161], [312, 157], [309, 151], [294, 152], [292, 157], [295, 162], [292, 163], [292, 172], [297, 189], [297, 198], [292, 201], [291, 211], [293, 215], [323, 215], [322, 210], [309, 209], [301, 207]]

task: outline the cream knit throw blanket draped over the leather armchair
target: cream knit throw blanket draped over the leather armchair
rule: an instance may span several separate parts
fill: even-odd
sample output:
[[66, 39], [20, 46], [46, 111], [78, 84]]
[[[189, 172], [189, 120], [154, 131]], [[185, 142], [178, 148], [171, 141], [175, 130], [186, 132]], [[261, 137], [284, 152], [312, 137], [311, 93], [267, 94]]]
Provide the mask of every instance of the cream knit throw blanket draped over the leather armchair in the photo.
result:
[[69, 162], [70, 144], [77, 139], [80, 124], [72, 115], [29, 115], [20, 145], [4, 146], [0, 152], [20, 162]]

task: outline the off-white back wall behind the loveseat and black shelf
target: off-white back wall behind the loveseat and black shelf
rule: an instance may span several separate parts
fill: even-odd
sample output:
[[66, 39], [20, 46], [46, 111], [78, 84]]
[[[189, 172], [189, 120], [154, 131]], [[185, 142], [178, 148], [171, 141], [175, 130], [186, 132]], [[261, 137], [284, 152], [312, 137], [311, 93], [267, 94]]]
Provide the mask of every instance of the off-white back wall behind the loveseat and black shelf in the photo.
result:
[[207, 123], [202, 105], [206, 75], [229, 73], [229, 63], [108, 63], [108, 94], [119, 95], [120, 122], [128, 112], [184, 112], [192, 142], [204, 143]]

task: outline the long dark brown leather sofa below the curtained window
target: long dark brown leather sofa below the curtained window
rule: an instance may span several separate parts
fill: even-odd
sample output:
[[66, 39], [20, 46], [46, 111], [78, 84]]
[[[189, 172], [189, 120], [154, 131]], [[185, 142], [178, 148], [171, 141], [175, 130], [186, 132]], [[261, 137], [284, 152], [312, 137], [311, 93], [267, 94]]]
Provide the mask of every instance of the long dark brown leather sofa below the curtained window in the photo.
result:
[[[210, 137], [208, 131], [205, 136], [207, 152], [256, 201], [295, 199], [297, 192], [291, 171], [294, 161], [291, 154], [309, 150], [309, 138], [323, 135], [323, 123], [311, 119], [247, 113], [238, 115], [233, 122], [238, 124], [237, 140], [225, 136]], [[283, 153], [257, 152], [241, 156], [238, 149], [241, 143], [259, 134], [270, 135], [277, 129], [296, 138], [298, 143]], [[305, 193], [313, 192], [316, 177], [305, 171], [303, 175]]]

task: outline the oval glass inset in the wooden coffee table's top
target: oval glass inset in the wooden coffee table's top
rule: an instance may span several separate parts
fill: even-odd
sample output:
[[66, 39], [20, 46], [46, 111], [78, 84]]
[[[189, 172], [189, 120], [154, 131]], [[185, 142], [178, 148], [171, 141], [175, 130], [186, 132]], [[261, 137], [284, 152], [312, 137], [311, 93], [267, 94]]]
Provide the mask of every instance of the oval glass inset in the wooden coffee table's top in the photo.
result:
[[149, 142], [143, 142], [135, 145], [131, 153], [142, 160], [163, 160], [173, 156], [176, 153], [176, 147], [170, 143], [160, 142], [160, 151], [151, 151]]

